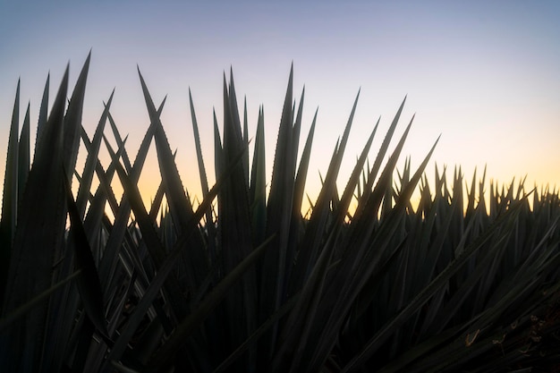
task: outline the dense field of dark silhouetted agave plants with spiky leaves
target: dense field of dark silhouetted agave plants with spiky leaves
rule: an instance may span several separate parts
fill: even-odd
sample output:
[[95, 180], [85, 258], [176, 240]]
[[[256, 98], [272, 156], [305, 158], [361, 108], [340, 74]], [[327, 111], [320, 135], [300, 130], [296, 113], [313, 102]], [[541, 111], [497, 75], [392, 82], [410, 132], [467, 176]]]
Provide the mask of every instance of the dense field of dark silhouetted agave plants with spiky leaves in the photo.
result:
[[[112, 97], [93, 137], [83, 131], [88, 68], [89, 57], [71, 95], [66, 71], [52, 104], [47, 80], [33, 153], [16, 93], [0, 225], [4, 371], [560, 369], [556, 191], [521, 182], [487, 193], [485, 175], [467, 182], [459, 170], [447, 182], [445, 169], [429, 183], [431, 151], [417, 170], [396, 171], [412, 124], [388, 154], [402, 105], [369, 165], [372, 130], [341, 195], [356, 98], [304, 218], [315, 121], [298, 155], [303, 94], [296, 106], [291, 73], [269, 181], [263, 114], [250, 136], [233, 77], [221, 132], [215, 117], [211, 187], [191, 102], [203, 192], [195, 209], [159, 119], [164, 103], [141, 74], [151, 124], [134, 159]], [[161, 184], [145, 206], [138, 180], [152, 143]]]

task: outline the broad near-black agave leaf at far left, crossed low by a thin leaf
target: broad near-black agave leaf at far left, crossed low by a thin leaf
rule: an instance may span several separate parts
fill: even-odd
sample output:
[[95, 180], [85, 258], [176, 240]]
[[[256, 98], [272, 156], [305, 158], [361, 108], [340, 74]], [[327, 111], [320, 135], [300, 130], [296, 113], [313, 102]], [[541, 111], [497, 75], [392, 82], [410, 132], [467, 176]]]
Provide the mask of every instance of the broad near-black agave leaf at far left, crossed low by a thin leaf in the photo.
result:
[[[57, 234], [63, 232], [63, 125], [68, 68], [41, 137], [13, 242], [3, 313], [7, 315], [52, 285]], [[33, 232], [33, 234], [30, 234]], [[0, 363], [10, 371], [37, 371], [45, 336], [47, 305], [38, 304], [0, 335]], [[8, 347], [10, 346], [10, 347]], [[24, 353], [13, 355], [9, 352]]]

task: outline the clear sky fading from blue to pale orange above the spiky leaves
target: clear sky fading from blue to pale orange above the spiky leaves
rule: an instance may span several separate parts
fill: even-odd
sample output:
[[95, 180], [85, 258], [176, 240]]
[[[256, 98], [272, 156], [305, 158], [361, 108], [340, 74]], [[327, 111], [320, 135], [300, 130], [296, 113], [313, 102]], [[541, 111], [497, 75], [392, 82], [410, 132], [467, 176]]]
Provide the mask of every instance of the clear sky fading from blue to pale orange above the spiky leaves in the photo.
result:
[[[191, 196], [201, 193], [189, 89], [212, 180], [212, 110], [221, 123], [224, 72], [233, 68], [239, 102], [247, 99], [250, 136], [264, 106], [269, 175], [291, 64], [298, 103], [305, 87], [303, 136], [318, 109], [311, 199], [359, 90], [341, 191], [380, 117], [369, 153], [373, 163], [405, 96], [396, 136], [416, 116], [400, 169], [407, 156], [413, 169], [420, 165], [441, 135], [428, 177], [435, 165], [446, 165], [449, 176], [461, 165], [470, 180], [475, 168], [480, 175], [486, 165], [488, 179], [496, 182], [526, 175], [528, 189], [559, 186], [558, 16], [557, 1], [0, 0], [0, 174], [18, 79], [21, 119], [30, 102], [34, 135], [47, 74], [52, 103], [66, 64], [73, 87], [91, 50], [85, 130], [93, 135], [103, 102], [115, 89], [111, 113], [123, 135], [129, 134], [129, 154], [136, 155], [149, 122], [138, 66], [154, 101], [167, 97], [161, 119]], [[140, 179], [145, 199], [159, 182], [156, 152], [148, 157]]]

